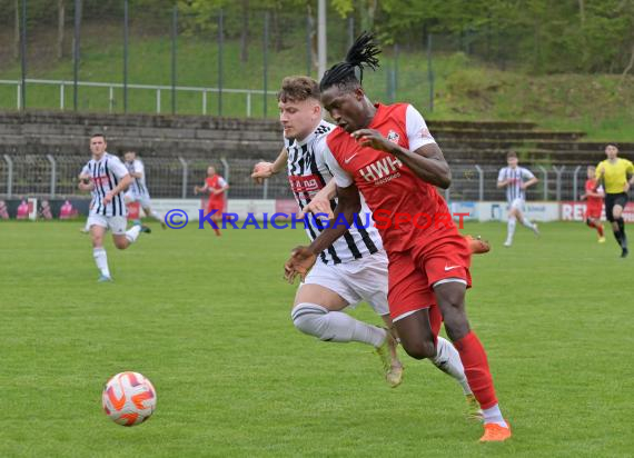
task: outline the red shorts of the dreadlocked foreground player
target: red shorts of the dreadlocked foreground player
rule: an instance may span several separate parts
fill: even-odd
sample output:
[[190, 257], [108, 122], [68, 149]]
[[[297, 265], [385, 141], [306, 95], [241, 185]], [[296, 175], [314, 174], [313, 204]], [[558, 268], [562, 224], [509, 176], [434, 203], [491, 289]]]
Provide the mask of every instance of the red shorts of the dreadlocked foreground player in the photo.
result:
[[[387, 302], [393, 320], [424, 308], [437, 309], [433, 287], [438, 281], [459, 279], [467, 288], [472, 286], [470, 250], [466, 239], [457, 232], [432, 242], [415, 243], [407, 251], [388, 251], [387, 256]], [[439, 315], [438, 310], [436, 312]], [[437, 327], [439, 329], [439, 323]]]

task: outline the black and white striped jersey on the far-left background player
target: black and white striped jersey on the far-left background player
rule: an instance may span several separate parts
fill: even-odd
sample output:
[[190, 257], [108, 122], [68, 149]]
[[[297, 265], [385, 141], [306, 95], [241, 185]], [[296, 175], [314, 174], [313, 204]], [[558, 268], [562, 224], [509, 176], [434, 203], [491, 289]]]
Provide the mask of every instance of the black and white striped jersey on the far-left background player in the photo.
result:
[[118, 157], [106, 152], [99, 160], [90, 159], [83, 167], [83, 172], [88, 172], [90, 180], [95, 185], [92, 202], [90, 203], [91, 216], [125, 217], [128, 215], [122, 192], [115, 196], [110, 203], [103, 203], [106, 195], [115, 189], [121, 179], [128, 175], [128, 169]]

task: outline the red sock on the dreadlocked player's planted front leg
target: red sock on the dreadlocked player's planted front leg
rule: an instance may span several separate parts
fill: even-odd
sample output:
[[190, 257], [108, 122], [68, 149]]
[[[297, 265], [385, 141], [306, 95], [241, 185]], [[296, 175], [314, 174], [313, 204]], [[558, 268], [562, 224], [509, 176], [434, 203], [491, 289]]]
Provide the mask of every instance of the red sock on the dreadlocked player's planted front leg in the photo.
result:
[[497, 404], [493, 378], [488, 369], [486, 352], [474, 331], [469, 331], [460, 340], [454, 342], [460, 354], [467, 381], [482, 409], [488, 409]]

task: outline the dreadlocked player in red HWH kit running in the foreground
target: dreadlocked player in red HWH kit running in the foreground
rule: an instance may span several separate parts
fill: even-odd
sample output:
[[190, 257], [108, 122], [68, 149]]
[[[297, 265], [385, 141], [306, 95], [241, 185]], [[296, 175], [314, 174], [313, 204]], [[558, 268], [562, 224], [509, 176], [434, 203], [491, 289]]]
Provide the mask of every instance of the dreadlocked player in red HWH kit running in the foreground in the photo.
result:
[[449, 166], [414, 107], [373, 104], [366, 97], [363, 68], [376, 69], [379, 52], [364, 33], [320, 81], [321, 103], [338, 126], [327, 138], [326, 162], [339, 200], [334, 223], [309, 247], [293, 251], [285, 276], [289, 281], [304, 277], [316, 255], [353, 223], [360, 192], [389, 258], [389, 311], [405, 351], [416, 359], [434, 357], [444, 320], [483, 410], [481, 441], [503, 441], [511, 427], [497, 404], [486, 352], [465, 312], [470, 252], [436, 191], [449, 187]]

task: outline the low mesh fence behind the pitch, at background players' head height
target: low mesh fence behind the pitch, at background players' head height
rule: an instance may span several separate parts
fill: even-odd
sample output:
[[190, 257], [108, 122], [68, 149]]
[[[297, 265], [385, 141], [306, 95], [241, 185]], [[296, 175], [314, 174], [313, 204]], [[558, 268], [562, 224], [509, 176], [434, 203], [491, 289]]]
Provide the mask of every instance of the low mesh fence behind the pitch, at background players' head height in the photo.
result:
[[[59, 155], [4, 155], [0, 158], [0, 197], [63, 198], [79, 195], [77, 177], [85, 165], [78, 157]], [[88, 158], [86, 159], [88, 160]], [[256, 185], [250, 178], [252, 159], [228, 158], [210, 163], [205, 159], [147, 158], [147, 183], [155, 198], [192, 198], [194, 187], [204, 183], [207, 167], [214, 165], [229, 182], [236, 199], [291, 199], [286, 176], [280, 173]], [[452, 166], [447, 200], [505, 200], [497, 189], [498, 168]], [[577, 200], [584, 192], [585, 166], [532, 167], [539, 182], [527, 190], [529, 200]]]

